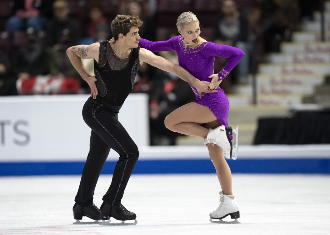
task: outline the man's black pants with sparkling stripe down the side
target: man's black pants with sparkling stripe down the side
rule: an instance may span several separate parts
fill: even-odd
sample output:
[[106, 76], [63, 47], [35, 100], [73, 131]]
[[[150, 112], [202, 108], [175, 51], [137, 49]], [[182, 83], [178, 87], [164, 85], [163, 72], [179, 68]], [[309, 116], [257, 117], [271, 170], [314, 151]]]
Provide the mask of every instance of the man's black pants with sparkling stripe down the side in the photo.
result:
[[139, 150], [132, 138], [118, 121], [120, 106], [104, 105], [89, 98], [82, 109], [85, 123], [92, 129], [89, 153], [82, 170], [82, 178], [75, 201], [82, 207], [93, 204], [97, 180], [110, 149], [119, 154], [111, 185], [103, 196], [110, 205], [118, 205], [127, 182], [139, 158]]

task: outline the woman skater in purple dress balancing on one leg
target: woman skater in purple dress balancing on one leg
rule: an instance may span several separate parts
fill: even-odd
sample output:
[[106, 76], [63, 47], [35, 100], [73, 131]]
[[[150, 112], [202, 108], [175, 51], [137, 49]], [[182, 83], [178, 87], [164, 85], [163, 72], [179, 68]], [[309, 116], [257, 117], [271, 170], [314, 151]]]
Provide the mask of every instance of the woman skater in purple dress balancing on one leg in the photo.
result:
[[[162, 42], [140, 39], [139, 46], [152, 52], [175, 50], [180, 66], [201, 81], [211, 82], [210, 90], [217, 90], [216, 93], [199, 94], [190, 84], [196, 95], [196, 101], [170, 113], [165, 118], [165, 126], [174, 132], [205, 138], [204, 143], [207, 144], [221, 187], [219, 200], [221, 203], [210, 213], [210, 217], [222, 219], [230, 215], [232, 219], [237, 219], [240, 217], [239, 207], [232, 191], [231, 171], [224, 159], [224, 156], [231, 158], [232, 150], [230, 141], [232, 129], [227, 127], [229, 102], [219, 84], [242, 59], [244, 52], [232, 46], [207, 42], [199, 37], [201, 33], [199, 21], [192, 12], [182, 13], [178, 18], [177, 27], [180, 36]], [[214, 73], [213, 69], [215, 56], [229, 58], [219, 73]], [[219, 136], [219, 133], [222, 133], [223, 137], [215, 140], [215, 136]]]

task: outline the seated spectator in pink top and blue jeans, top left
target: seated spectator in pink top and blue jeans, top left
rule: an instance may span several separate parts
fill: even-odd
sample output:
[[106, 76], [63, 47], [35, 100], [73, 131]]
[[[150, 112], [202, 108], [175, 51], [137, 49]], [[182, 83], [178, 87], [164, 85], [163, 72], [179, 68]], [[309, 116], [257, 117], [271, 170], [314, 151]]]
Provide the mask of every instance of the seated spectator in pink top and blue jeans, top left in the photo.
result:
[[6, 23], [6, 31], [24, 31], [32, 27], [36, 31], [44, 29], [51, 16], [53, 0], [15, 0], [14, 15]]

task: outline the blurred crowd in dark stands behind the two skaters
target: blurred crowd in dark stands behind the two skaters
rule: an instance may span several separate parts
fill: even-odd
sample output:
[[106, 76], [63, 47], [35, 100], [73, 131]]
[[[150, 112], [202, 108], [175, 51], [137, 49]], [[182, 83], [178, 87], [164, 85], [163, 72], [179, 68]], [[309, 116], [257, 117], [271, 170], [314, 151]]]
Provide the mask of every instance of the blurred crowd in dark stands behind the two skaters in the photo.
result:
[[[295, 0], [257, 39], [249, 42], [269, 17], [291, 0], [0, 0], [0, 95], [88, 94], [89, 87], [71, 65], [66, 49], [111, 39], [111, 21], [117, 14], [139, 15], [139, 34], [151, 41], [178, 35], [182, 12], [197, 15], [201, 37], [245, 51], [240, 64], [221, 83], [230, 94], [235, 84], [250, 84], [251, 54], [263, 62], [267, 53], [279, 52], [299, 23], [312, 18], [319, 1]], [[157, 53], [178, 63], [175, 51]], [[216, 58], [218, 72], [227, 59]], [[93, 61], [84, 60], [93, 74]], [[194, 100], [189, 85], [177, 76], [144, 64], [133, 93], [149, 95], [151, 145], [175, 145], [178, 133], [163, 121], [179, 106]]]

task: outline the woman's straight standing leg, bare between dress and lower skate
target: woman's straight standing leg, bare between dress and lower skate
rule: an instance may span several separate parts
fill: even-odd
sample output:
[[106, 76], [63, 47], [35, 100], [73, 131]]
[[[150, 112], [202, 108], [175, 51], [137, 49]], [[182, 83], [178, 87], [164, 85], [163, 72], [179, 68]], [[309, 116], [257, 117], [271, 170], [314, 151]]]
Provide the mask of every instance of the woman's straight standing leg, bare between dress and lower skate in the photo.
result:
[[[206, 128], [212, 129], [215, 129], [220, 125], [221, 124], [218, 120], [204, 124]], [[218, 176], [223, 194], [233, 195], [231, 171], [227, 161], [223, 157], [222, 149], [219, 146], [212, 144], [208, 144], [207, 148], [209, 150], [211, 161], [214, 164], [216, 175]]]

